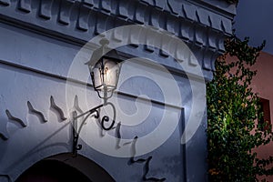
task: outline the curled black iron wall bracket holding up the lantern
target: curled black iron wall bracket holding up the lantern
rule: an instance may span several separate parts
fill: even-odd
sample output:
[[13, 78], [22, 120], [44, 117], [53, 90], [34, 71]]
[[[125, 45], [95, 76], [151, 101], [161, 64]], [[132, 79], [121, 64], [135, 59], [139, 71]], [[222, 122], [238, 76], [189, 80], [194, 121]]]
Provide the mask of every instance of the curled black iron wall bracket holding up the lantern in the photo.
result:
[[[108, 130], [111, 130], [114, 125], [115, 125], [115, 121], [116, 121], [116, 107], [110, 103], [110, 102], [106, 102], [105, 104], [103, 105], [99, 105], [99, 106], [96, 106], [88, 111], [86, 111], [85, 113], [83, 114], [80, 114], [80, 115], [77, 115], [76, 114], [76, 111], [73, 112], [73, 121], [72, 121], [72, 127], [73, 127], [73, 156], [76, 157], [77, 155], [77, 151], [82, 149], [82, 145], [80, 144], [77, 144], [78, 143], [78, 137], [79, 137], [79, 134], [83, 128], [83, 126], [85, 125], [86, 123], [86, 120], [89, 116], [91, 116], [92, 114], [95, 114], [95, 118], [99, 118], [100, 117], [100, 112], [99, 112], [99, 109], [103, 106], [111, 106], [112, 109], [113, 109], [113, 120], [111, 121], [111, 124], [109, 126], [106, 126], [106, 123], [108, 123], [110, 121], [110, 118], [109, 116], [103, 116], [102, 117], [102, 120], [100, 122], [100, 126], [108, 131]], [[82, 116], [85, 116], [84, 119], [82, 120], [81, 124], [79, 127], [77, 127], [77, 119], [82, 117]]]

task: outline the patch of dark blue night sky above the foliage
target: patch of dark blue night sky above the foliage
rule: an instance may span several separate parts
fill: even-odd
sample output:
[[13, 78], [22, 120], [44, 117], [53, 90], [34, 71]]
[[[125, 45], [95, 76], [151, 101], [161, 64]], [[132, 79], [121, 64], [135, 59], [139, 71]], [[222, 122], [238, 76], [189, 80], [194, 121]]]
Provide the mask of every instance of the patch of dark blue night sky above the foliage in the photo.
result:
[[250, 45], [267, 41], [263, 51], [273, 55], [273, 1], [239, 0], [234, 28], [240, 38], [249, 36]]

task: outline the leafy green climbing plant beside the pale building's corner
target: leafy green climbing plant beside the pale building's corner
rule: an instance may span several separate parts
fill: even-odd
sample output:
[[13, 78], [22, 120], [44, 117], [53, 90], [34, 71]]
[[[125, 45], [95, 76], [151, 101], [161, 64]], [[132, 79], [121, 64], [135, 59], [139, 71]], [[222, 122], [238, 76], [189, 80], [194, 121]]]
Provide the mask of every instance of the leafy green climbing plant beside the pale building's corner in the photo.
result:
[[[225, 42], [226, 53], [217, 58], [216, 72], [207, 84], [207, 150], [209, 181], [258, 181], [272, 175], [273, 157], [258, 159], [253, 150], [272, 141], [271, 127], [261, 131], [258, 96], [252, 92], [251, 69], [265, 43], [248, 45], [237, 37]], [[227, 57], [233, 61], [226, 62]]]

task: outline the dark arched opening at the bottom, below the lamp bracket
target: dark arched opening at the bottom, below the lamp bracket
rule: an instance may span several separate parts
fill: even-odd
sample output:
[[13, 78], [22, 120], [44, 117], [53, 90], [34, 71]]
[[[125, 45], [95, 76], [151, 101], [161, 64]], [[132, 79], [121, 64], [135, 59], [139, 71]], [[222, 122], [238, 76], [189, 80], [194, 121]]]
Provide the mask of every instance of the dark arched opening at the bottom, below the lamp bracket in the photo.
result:
[[25, 181], [63, 182], [114, 182], [103, 167], [98, 166], [94, 161], [78, 155], [72, 157], [71, 154], [59, 154], [47, 157], [25, 170], [15, 182]]

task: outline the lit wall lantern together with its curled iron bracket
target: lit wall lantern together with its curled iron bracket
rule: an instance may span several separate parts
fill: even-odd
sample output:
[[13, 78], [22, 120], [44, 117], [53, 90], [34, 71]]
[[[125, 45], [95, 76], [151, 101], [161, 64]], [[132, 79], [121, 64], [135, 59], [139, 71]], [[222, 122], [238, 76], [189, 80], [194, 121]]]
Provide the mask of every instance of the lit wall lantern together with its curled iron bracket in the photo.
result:
[[[113, 108], [113, 120], [109, 126], [106, 126], [106, 122], [109, 122], [109, 116], [103, 116], [100, 125], [105, 130], [110, 130], [113, 128], [116, 119], [116, 108], [115, 106], [107, 102], [107, 99], [113, 96], [113, 92], [116, 89], [118, 77], [121, 68], [122, 59], [117, 55], [115, 49], [108, 49], [107, 45], [109, 41], [106, 38], [100, 40], [100, 47], [96, 49], [91, 56], [89, 62], [86, 65], [89, 68], [92, 83], [94, 89], [96, 90], [98, 96], [104, 100], [102, 105], [95, 106], [87, 110], [85, 113], [77, 115], [76, 111], [73, 112], [73, 156], [76, 157], [77, 151], [82, 148], [82, 145], [78, 145], [78, 137], [80, 135], [81, 129], [86, 123], [86, 119], [95, 114], [95, 117], [99, 117], [99, 108], [103, 106], [111, 106]], [[83, 118], [81, 123], [78, 124], [77, 119]]]

